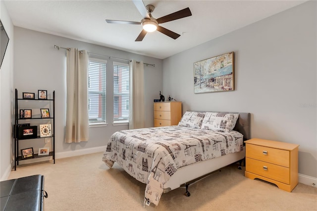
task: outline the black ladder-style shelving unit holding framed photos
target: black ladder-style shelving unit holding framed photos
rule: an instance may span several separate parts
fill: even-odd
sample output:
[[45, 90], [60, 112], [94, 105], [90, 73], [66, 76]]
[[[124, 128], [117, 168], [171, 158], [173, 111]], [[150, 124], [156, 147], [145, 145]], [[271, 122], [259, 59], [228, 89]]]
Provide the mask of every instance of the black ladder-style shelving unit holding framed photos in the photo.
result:
[[[29, 139], [19, 139], [17, 134], [14, 134], [14, 170], [16, 170], [16, 166], [19, 165], [19, 161], [20, 160], [26, 160], [26, 159], [36, 159], [36, 158], [44, 158], [44, 157], [53, 157], [53, 163], [55, 163], [55, 91], [53, 91], [53, 99], [21, 99], [18, 98], [18, 90], [15, 89], [15, 120], [14, 120], [14, 126], [16, 127], [16, 125], [18, 125], [21, 121], [24, 121], [26, 119], [22, 119], [19, 117], [19, 101], [48, 101], [53, 103], [53, 115], [51, 115], [51, 117], [48, 118], [38, 118], [38, 117], [32, 117], [32, 118], [27, 118], [27, 120], [35, 120], [35, 119], [42, 119], [42, 120], [51, 120], [51, 130], [52, 130], [52, 136], [48, 136], [48, 137], [41, 137], [41, 136], [37, 136], [31, 139], [45, 139], [45, 138], [52, 138], [52, 143], [51, 146], [53, 145], [53, 151], [49, 152], [49, 155], [41, 155], [39, 156], [38, 154], [33, 154], [32, 158], [23, 158], [22, 156], [19, 156], [19, 141], [23, 141], [23, 140], [29, 140]], [[40, 109], [40, 107], [39, 107]], [[53, 122], [53, 124], [52, 124]], [[18, 128], [16, 128], [17, 130]], [[15, 133], [15, 130], [13, 130]], [[50, 148], [51, 149], [51, 148]], [[34, 152], [33, 152], [34, 153]]]

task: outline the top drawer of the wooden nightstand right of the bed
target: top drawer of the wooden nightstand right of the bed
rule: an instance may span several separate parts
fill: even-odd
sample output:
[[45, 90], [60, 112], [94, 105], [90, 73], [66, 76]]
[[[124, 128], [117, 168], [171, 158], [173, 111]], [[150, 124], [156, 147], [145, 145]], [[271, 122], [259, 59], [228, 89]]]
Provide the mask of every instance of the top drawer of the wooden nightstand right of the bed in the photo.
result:
[[289, 151], [246, 144], [246, 157], [289, 167]]

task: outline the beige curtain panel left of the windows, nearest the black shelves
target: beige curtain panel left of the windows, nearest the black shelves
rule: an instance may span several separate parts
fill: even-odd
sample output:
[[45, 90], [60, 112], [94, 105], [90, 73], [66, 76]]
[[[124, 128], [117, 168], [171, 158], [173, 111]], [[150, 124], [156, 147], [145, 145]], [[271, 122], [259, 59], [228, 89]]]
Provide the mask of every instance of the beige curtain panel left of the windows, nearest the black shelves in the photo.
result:
[[67, 99], [65, 142], [88, 141], [88, 55], [87, 51], [67, 51]]

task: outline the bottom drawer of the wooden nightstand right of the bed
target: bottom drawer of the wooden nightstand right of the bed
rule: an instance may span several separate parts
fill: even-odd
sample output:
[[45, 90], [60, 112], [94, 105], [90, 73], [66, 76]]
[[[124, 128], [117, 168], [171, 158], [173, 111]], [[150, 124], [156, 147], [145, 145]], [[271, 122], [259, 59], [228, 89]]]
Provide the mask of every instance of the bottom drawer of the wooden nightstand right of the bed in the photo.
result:
[[290, 184], [290, 169], [284, 166], [246, 158], [246, 171], [264, 176], [285, 184]]

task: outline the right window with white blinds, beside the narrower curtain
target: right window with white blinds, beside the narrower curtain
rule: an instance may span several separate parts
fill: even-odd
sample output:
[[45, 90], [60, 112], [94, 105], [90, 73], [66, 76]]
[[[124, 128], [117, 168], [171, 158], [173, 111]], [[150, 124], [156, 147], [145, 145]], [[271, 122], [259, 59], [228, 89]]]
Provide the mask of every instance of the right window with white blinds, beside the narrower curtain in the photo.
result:
[[113, 62], [113, 123], [129, 122], [129, 65]]

